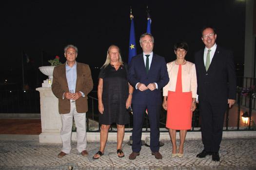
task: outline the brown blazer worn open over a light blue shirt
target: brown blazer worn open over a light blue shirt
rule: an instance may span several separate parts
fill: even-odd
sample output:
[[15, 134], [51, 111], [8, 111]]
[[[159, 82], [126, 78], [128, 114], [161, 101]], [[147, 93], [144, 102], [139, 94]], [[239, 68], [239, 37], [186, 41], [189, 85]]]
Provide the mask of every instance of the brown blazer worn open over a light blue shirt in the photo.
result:
[[[83, 92], [85, 97], [76, 100], [76, 109], [78, 113], [88, 111], [87, 95], [93, 89], [93, 80], [91, 70], [87, 64], [77, 62], [77, 83], [76, 92]], [[70, 112], [70, 100], [62, 99], [64, 92], [68, 92], [68, 83], [66, 78], [66, 63], [56, 66], [53, 70], [52, 91], [59, 98], [59, 113], [67, 114]]]

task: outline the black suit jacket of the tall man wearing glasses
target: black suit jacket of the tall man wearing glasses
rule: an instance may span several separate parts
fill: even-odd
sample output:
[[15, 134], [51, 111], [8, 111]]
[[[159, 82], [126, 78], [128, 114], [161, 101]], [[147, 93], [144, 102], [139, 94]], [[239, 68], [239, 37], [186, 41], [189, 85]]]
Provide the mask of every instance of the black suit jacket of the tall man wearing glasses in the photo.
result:
[[195, 54], [198, 101], [227, 102], [236, 99], [236, 69], [233, 53], [219, 46], [208, 71], [203, 60], [204, 49]]

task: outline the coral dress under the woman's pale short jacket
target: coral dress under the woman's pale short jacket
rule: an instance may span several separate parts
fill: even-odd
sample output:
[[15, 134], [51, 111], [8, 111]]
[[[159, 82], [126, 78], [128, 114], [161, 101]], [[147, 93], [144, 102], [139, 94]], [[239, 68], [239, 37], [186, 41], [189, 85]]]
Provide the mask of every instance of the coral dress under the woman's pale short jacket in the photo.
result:
[[168, 91], [166, 127], [190, 130], [192, 124], [192, 92], [182, 92], [181, 67], [178, 66], [176, 90]]

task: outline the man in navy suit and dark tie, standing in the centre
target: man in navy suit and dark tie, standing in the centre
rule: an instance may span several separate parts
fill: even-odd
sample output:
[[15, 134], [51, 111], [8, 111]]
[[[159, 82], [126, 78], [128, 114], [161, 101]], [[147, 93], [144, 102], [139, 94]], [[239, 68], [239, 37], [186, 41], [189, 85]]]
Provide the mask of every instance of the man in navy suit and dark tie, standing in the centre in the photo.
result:
[[153, 53], [154, 37], [148, 33], [142, 34], [139, 43], [143, 53], [132, 58], [128, 76], [134, 87], [133, 152], [129, 159], [136, 159], [141, 150], [141, 132], [146, 109], [150, 123], [150, 149], [155, 158], [162, 159], [159, 153], [159, 115], [162, 102], [160, 89], [167, 85], [169, 77], [164, 58]]

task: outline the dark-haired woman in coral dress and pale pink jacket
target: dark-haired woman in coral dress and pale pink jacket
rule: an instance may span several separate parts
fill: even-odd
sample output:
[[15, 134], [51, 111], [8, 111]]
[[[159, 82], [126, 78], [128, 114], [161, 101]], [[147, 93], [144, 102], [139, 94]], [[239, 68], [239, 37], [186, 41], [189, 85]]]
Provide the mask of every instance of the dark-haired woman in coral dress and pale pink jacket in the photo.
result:
[[[166, 127], [173, 144], [172, 157], [183, 156], [187, 130], [191, 129], [192, 113], [196, 109], [197, 74], [195, 64], [185, 60], [188, 51], [186, 42], [176, 43], [177, 59], [167, 63], [170, 81], [163, 88], [163, 108], [167, 110]], [[179, 130], [180, 144], [176, 145], [176, 130]]]

